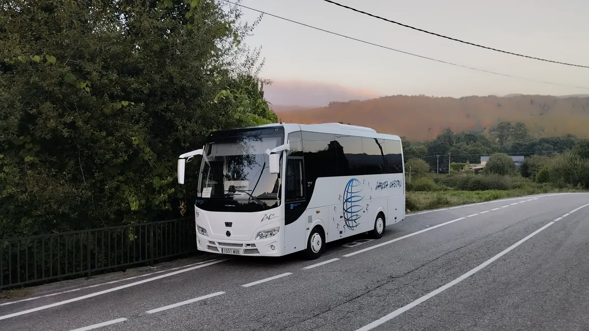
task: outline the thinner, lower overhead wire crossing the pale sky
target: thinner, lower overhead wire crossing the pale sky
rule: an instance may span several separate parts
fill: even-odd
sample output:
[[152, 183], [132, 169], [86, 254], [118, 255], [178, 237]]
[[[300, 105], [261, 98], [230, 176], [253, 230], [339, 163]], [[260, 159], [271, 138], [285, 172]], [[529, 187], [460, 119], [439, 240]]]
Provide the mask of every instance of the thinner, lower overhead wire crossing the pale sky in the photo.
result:
[[526, 77], [519, 77], [519, 76], [514, 76], [514, 75], [502, 74], [501, 72], [489, 71], [489, 70], [485, 70], [485, 69], [479, 69], [479, 68], [469, 67], [468, 65], [461, 65], [461, 64], [456, 64], [456, 63], [448, 62], [448, 61], [443, 61], [441, 59], [435, 59], [435, 58], [425, 57], [423, 55], [413, 54], [413, 53], [410, 53], [410, 52], [401, 51], [400, 49], [386, 47], [386, 46], [375, 44], [373, 42], [365, 41], [365, 40], [362, 40], [362, 39], [353, 38], [353, 37], [349, 37], [347, 35], [338, 34], [337, 32], [329, 31], [329, 30], [326, 30], [326, 29], [313, 27], [312, 25], [308, 25], [308, 24], [305, 24], [305, 23], [293, 21], [292, 19], [288, 19], [288, 18], [284, 18], [282, 16], [278, 16], [278, 15], [270, 14], [268, 12], [260, 11], [259, 9], [255, 9], [255, 8], [251, 8], [251, 7], [248, 7], [248, 6], [241, 5], [241, 4], [237, 4], [236, 2], [231, 2], [229, 0], [223, 0], [223, 1], [224, 2], [227, 2], [228, 4], [237, 5], [237, 6], [240, 6], [242, 8], [250, 9], [251, 11], [259, 12], [260, 14], [263, 14], [263, 15], [272, 16], [274, 18], [279, 18], [279, 19], [283, 19], [284, 21], [288, 21], [288, 22], [291, 22], [291, 23], [294, 23], [294, 24], [302, 25], [303, 27], [307, 27], [307, 28], [318, 30], [318, 31], [326, 32], [327, 34], [336, 35], [338, 37], [347, 38], [347, 39], [350, 39], [350, 40], [353, 40], [353, 41], [362, 42], [363, 44], [367, 44], [367, 45], [372, 45], [372, 46], [376, 46], [376, 47], [388, 49], [389, 51], [394, 51], [394, 52], [399, 52], [399, 53], [406, 54], [406, 55], [411, 55], [412, 57], [418, 57], [418, 58], [422, 58], [422, 59], [428, 59], [430, 61], [435, 61], [435, 62], [439, 62], [439, 63], [454, 65], [455, 67], [461, 67], [461, 68], [465, 68], [465, 69], [471, 69], [471, 70], [475, 70], [475, 71], [486, 72], [487, 74], [499, 75], [499, 76], [509, 77], [509, 78], [517, 78], [518, 80], [525, 80], [525, 81], [532, 81], [532, 82], [541, 82], [541, 83], [544, 83], [544, 84], [559, 85], [559, 86], [574, 87], [574, 88], [581, 88], [583, 90], [589, 90], [589, 87], [583, 87], [583, 86], [577, 86], [577, 85], [569, 85], [569, 84], [561, 84], [561, 83], [550, 82], [550, 81], [534, 80], [532, 78], [526, 78]]

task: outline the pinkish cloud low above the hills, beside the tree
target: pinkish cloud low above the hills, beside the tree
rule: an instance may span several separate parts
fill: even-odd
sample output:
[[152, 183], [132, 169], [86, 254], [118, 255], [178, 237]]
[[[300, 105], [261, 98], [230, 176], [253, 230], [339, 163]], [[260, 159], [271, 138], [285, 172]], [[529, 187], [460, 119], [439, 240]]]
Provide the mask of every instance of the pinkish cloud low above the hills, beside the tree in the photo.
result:
[[337, 84], [297, 80], [273, 80], [264, 86], [264, 97], [273, 105], [325, 107], [331, 101], [368, 100], [382, 95]]

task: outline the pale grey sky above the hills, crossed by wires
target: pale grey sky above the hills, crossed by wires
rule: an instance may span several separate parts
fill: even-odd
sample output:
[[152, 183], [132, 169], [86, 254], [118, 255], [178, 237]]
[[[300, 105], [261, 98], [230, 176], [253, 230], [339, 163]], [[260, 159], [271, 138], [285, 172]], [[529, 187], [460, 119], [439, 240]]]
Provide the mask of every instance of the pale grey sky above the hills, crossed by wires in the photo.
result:
[[[589, 65], [588, 0], [338, 0], [375, 15], [506, 51]], [[247, 39], [264, 78], [339, 84], [379, 95], [587, 94], [589, 68], [501, 54], [413, 31], [321, 0], [242, 0], [294, 21], [402, 51], [586, 90], [500, 77], [352, 41], [264, 15]], [[244, 19], [259, 13], [243, 9]]]

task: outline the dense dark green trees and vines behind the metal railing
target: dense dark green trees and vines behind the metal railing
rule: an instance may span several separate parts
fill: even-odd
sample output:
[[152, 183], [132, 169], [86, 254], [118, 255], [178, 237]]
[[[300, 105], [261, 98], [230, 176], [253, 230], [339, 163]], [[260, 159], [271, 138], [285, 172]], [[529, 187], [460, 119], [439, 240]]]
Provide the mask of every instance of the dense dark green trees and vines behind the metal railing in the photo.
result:
[[213, 0], [0, 5], [0, 237], [179, 216], [196, 190], [176, 184], [177, 155], [276, 121], [240, 16]]

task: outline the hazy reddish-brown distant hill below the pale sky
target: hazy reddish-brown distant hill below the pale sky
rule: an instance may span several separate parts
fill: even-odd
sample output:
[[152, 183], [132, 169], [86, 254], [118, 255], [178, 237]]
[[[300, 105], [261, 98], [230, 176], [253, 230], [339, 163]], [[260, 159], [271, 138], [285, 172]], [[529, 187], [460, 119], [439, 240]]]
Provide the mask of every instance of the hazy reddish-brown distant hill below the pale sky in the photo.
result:
[[445, 128], [484, 131], [499, 121], [519, 121], [536, 137], [589, 135], [589, 95], [554, 97], [426, 97], [394, 95], [365, 101], [330, 102], [328, 107], [277, 111], [284, 123], [343, 122], [404, 135], [433, 139]]

